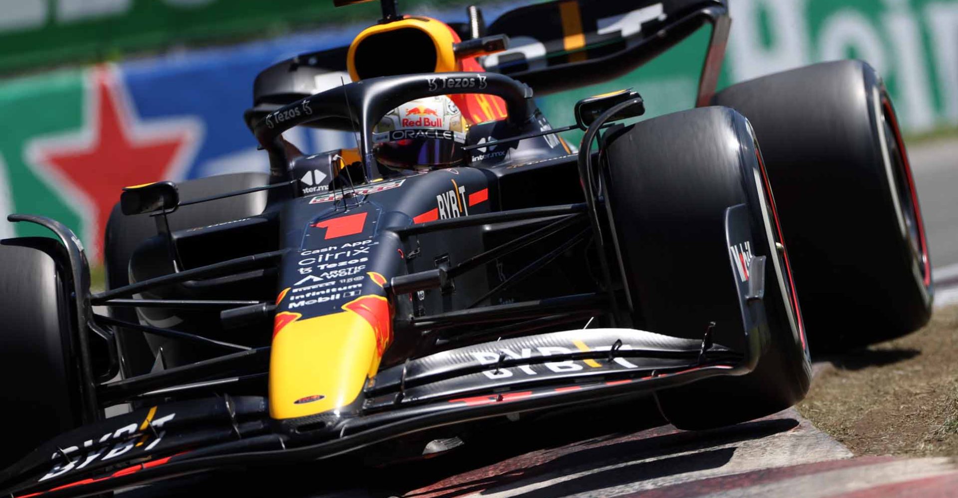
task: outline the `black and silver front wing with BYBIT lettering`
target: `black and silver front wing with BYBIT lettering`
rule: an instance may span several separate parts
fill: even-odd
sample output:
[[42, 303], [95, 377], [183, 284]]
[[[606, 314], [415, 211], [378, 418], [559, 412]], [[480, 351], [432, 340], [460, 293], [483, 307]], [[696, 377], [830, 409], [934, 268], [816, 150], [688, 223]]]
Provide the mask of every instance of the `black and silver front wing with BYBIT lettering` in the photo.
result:
[[[764, 262], [753, 261], [757, 268]], [[757, 279], [756, 279], [757, 280]], [[755, 284], [753, 283], [753, 286]], [[759, 292], [757, 295], [761, 295]], [[353, 416], [295, 428], [268, 417], [262, 397], [174, 401], [89, 424], [0, 472], [3, 495], [83, 496], [222, 466], [331, 458], [402, 435], [509, 413], [651, 393], [754, 369], [762, 299], [743, 299], [746, 344], [634, 329], [523, 336], [384, 369]]]

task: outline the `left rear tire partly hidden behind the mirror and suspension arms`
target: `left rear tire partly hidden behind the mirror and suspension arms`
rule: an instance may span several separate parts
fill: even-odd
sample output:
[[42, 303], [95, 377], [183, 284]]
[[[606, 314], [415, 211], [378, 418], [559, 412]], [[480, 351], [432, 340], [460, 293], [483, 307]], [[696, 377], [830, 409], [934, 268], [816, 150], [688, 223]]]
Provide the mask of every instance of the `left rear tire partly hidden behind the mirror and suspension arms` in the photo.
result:
[[[176, 186], [179, 189], [180, 201], [185, 202], [268, 183], [269, 175], [265, 173], [231, 173], [188, 180]], [[205, 227], [255, 216], [262, 213], [265, 205], [266, 192], [258, 191], [208, 203], [182, 206], [168, 217], [170, 229]], [[110, 219], [106, 224], [103, 243], [107, 289], [116, 289], [129, 284], [129, 260], [133, 251], [156, 234], [156, 222], [148, 214], [125, 216], [120, 211], [119, 203], [113, 206]], [[110, 313], [117, 318], [134, 323], [138, 319], [133, 308], [111, 309]], [[153, 353], [143, 334], [125, 331], [117, 338], [121, 354], [125, 358], [123, 363], [125, 377], [148, 373], [153, 364]]]

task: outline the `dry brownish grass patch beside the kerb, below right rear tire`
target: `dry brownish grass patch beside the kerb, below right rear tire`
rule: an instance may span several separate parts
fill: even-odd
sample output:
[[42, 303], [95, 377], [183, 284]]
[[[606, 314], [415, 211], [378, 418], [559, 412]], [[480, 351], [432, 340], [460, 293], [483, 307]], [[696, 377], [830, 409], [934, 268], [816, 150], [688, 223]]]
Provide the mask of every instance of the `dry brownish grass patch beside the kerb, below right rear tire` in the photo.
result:
[[798, 411], [856, 455], [958, 457], [958, 307], [922, 330], [841, 357]]

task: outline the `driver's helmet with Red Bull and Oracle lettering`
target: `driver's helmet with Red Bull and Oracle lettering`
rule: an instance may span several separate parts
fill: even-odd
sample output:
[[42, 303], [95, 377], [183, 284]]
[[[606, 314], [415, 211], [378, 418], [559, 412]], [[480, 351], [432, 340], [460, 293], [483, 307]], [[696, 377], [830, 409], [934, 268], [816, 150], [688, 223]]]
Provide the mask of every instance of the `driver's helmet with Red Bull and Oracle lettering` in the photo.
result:
[[376, 124], [373, 152], [378, 162], [398, 169], [456, 166], [466, 157], [465, 124], [451, 98], [417, 98]]

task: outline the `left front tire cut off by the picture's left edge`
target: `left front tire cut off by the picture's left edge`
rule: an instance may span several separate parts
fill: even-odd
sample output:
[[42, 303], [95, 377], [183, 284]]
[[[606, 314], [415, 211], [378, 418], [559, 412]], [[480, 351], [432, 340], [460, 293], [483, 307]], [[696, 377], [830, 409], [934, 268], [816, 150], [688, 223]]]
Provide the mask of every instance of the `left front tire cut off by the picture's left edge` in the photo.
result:
[[0, 241], [0, 468], [80, 423], [61, 251], [48, 238]]

